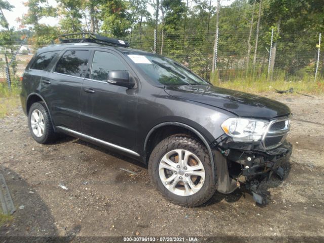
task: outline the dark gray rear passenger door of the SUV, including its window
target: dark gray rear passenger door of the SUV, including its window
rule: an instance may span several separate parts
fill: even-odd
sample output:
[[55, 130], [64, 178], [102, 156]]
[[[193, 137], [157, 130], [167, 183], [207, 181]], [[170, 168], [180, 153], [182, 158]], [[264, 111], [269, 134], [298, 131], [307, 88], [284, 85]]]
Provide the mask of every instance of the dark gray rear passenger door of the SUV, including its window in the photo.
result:
[[55, 126], [80, 131], [80, 92], [90, 51], [66, 49], [47, 76], [42, 77], [42, 94]]

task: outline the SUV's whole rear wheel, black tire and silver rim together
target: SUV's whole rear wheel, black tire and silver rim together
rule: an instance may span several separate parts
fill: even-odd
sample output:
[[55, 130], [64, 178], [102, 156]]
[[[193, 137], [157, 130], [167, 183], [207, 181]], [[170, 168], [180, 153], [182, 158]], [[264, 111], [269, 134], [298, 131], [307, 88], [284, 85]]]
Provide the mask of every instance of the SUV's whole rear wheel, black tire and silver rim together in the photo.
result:
[[28, 113], [28, 126], [31, 136], [38, 143], [50, 143], [57, 137], [44, 102], [36, 102], [31, 105]]

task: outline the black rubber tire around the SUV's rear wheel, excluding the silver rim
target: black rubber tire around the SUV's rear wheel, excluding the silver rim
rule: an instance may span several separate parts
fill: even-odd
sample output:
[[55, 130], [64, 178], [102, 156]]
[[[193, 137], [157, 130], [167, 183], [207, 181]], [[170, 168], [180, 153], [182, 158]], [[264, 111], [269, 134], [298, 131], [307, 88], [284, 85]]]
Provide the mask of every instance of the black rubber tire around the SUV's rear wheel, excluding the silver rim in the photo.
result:
[[[34, 132], [32, 131], [32, 127], [31, 127], [31, 115], [34, 110], [41, 111], [42, 115], [44, 117], [44, 125], [45, 125], [44, 127], [45, 128], [43, 131], [43, 135], [40, 137], [37, 137], [34, 134]], [[57, 134], [54, 132], [54, 129], [53, 129], [53, 124], [52, 124], [50, 114], [49, 114], [44, 102], [36, 102], [31, 105], [31, 107], [29, 109], [29, 113], [28, 113], [28, 127], [29, 127], [29, 131], [30, 131], [32, 138], [37, 143], [41, 143], [41, 144], [51, 143], [51, 142], [55, 141], [57, 138]]]

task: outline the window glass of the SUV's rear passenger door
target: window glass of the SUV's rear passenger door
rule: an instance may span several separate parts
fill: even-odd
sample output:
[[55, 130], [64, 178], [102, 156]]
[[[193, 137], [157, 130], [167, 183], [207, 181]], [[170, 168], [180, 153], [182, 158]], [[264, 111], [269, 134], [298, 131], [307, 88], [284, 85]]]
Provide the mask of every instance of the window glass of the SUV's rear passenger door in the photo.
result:
[[57, 62], [55, 72], [82, 77], [86, 71], [90, 52], [87, 50], [66, 51]]

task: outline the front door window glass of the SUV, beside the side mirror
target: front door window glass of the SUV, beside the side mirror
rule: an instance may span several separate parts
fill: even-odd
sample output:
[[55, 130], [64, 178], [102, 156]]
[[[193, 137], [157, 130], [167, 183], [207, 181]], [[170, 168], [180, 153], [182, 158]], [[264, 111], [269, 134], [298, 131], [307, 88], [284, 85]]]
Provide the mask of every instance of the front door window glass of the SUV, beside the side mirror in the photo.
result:
[[91, 79], [107, 81], [109, 71], [127, 70], [115, 55], [108, 52], [95, 52], [91, 67]]

